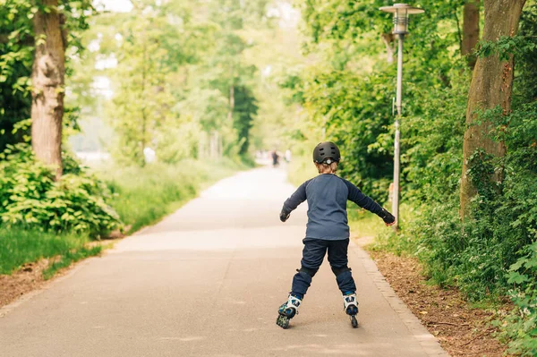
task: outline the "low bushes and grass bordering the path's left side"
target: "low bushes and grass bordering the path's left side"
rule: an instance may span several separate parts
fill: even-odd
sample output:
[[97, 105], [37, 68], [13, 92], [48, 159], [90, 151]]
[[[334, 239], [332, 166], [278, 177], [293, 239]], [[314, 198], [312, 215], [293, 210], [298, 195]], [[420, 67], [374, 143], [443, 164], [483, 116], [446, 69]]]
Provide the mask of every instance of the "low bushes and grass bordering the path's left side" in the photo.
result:
[[0, 161], [0, 274], [49, 259], [47, 279], [72, 262], [98, 255], [91, 241], [132, 234], [192, 200], [206, 185], [245, 168], [232, 160], [185, 160], [91, 170], [64, 157], [64, 174], [41, 164], [30, 147], [8, 147]]

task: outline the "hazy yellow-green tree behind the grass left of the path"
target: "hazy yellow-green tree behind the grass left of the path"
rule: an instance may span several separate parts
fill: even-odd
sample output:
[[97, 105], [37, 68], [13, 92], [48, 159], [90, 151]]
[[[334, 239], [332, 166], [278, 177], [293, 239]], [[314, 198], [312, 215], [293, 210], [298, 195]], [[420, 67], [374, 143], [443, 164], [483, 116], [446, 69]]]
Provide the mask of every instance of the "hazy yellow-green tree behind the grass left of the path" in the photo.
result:
[[187, 147], [198, 128], [176, 104], [183, 97], [187, 67], [203, 55], [209, 30], [192, 21], [192, 4], [132, 4], [131, 13], [98, 18], [106, 32], [98, 32], [99, 51], [118, 62], [108, 73], [116, 83], [109, 113], [115, 131], [112, 154], [121, 164], [144, 166], [144, 152], [152, 149], [159, 160], [173, 162], [192, 153]]

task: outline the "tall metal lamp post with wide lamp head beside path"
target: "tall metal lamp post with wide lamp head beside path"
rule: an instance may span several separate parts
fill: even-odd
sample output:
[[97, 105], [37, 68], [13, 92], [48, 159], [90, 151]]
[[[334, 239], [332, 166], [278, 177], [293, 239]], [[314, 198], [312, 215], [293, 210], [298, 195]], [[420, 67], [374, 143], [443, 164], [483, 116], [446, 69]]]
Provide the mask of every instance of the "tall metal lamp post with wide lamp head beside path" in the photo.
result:
[[394, 14], [394, 35], [399, 38], [399, 50], [397, 51], [397, 90], [396, 90], [396, 138], [394, 150], [394, 191], [392, 199], [392, 213], [397, 219], [394, 229], [399, 226], [399, 177], [401, 175], [400, 168], [400, 139], [401, 132], [399, 131], [399, 122], [401, 120], [401, 101], [403, 95], [403, 42], [405, 35], [408, 33], [408, 15], [415, 13], [424, 13], [423, 9], [412, 7], [408, 4], [394, 4], [393, 6], [384, 6], [380, 8], [385, 13]]

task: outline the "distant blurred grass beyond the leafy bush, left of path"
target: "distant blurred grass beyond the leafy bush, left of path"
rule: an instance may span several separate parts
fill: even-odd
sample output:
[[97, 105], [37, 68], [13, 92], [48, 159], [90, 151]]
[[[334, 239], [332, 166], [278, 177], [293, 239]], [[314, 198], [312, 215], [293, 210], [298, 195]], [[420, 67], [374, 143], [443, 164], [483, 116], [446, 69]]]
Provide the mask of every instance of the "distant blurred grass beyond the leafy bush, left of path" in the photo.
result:
[[152, 225], [196, 197], [210, 183], [245, 166], [231, 160], [184, 161], [176, 166], [105, 168], [98, 171], [114, 196], [110, 206], [132, 234]]

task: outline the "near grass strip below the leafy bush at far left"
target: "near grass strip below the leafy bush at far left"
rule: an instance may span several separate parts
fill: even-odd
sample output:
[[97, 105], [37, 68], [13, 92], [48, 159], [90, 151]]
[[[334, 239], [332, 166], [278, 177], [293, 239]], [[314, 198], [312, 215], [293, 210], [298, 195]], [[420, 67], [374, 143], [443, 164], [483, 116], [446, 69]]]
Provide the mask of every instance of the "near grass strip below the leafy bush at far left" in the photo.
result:
[[17, 227], [0, 228], [0, 274], [11, 274], [24, 264], [39, 259], [73, 257], [82, 253], [86, 256], [98, 254], [100, 247], [98, 250], [86, 251], [86, 243], [89, 241], [87, 236], [80, 234], [54, 234]]

